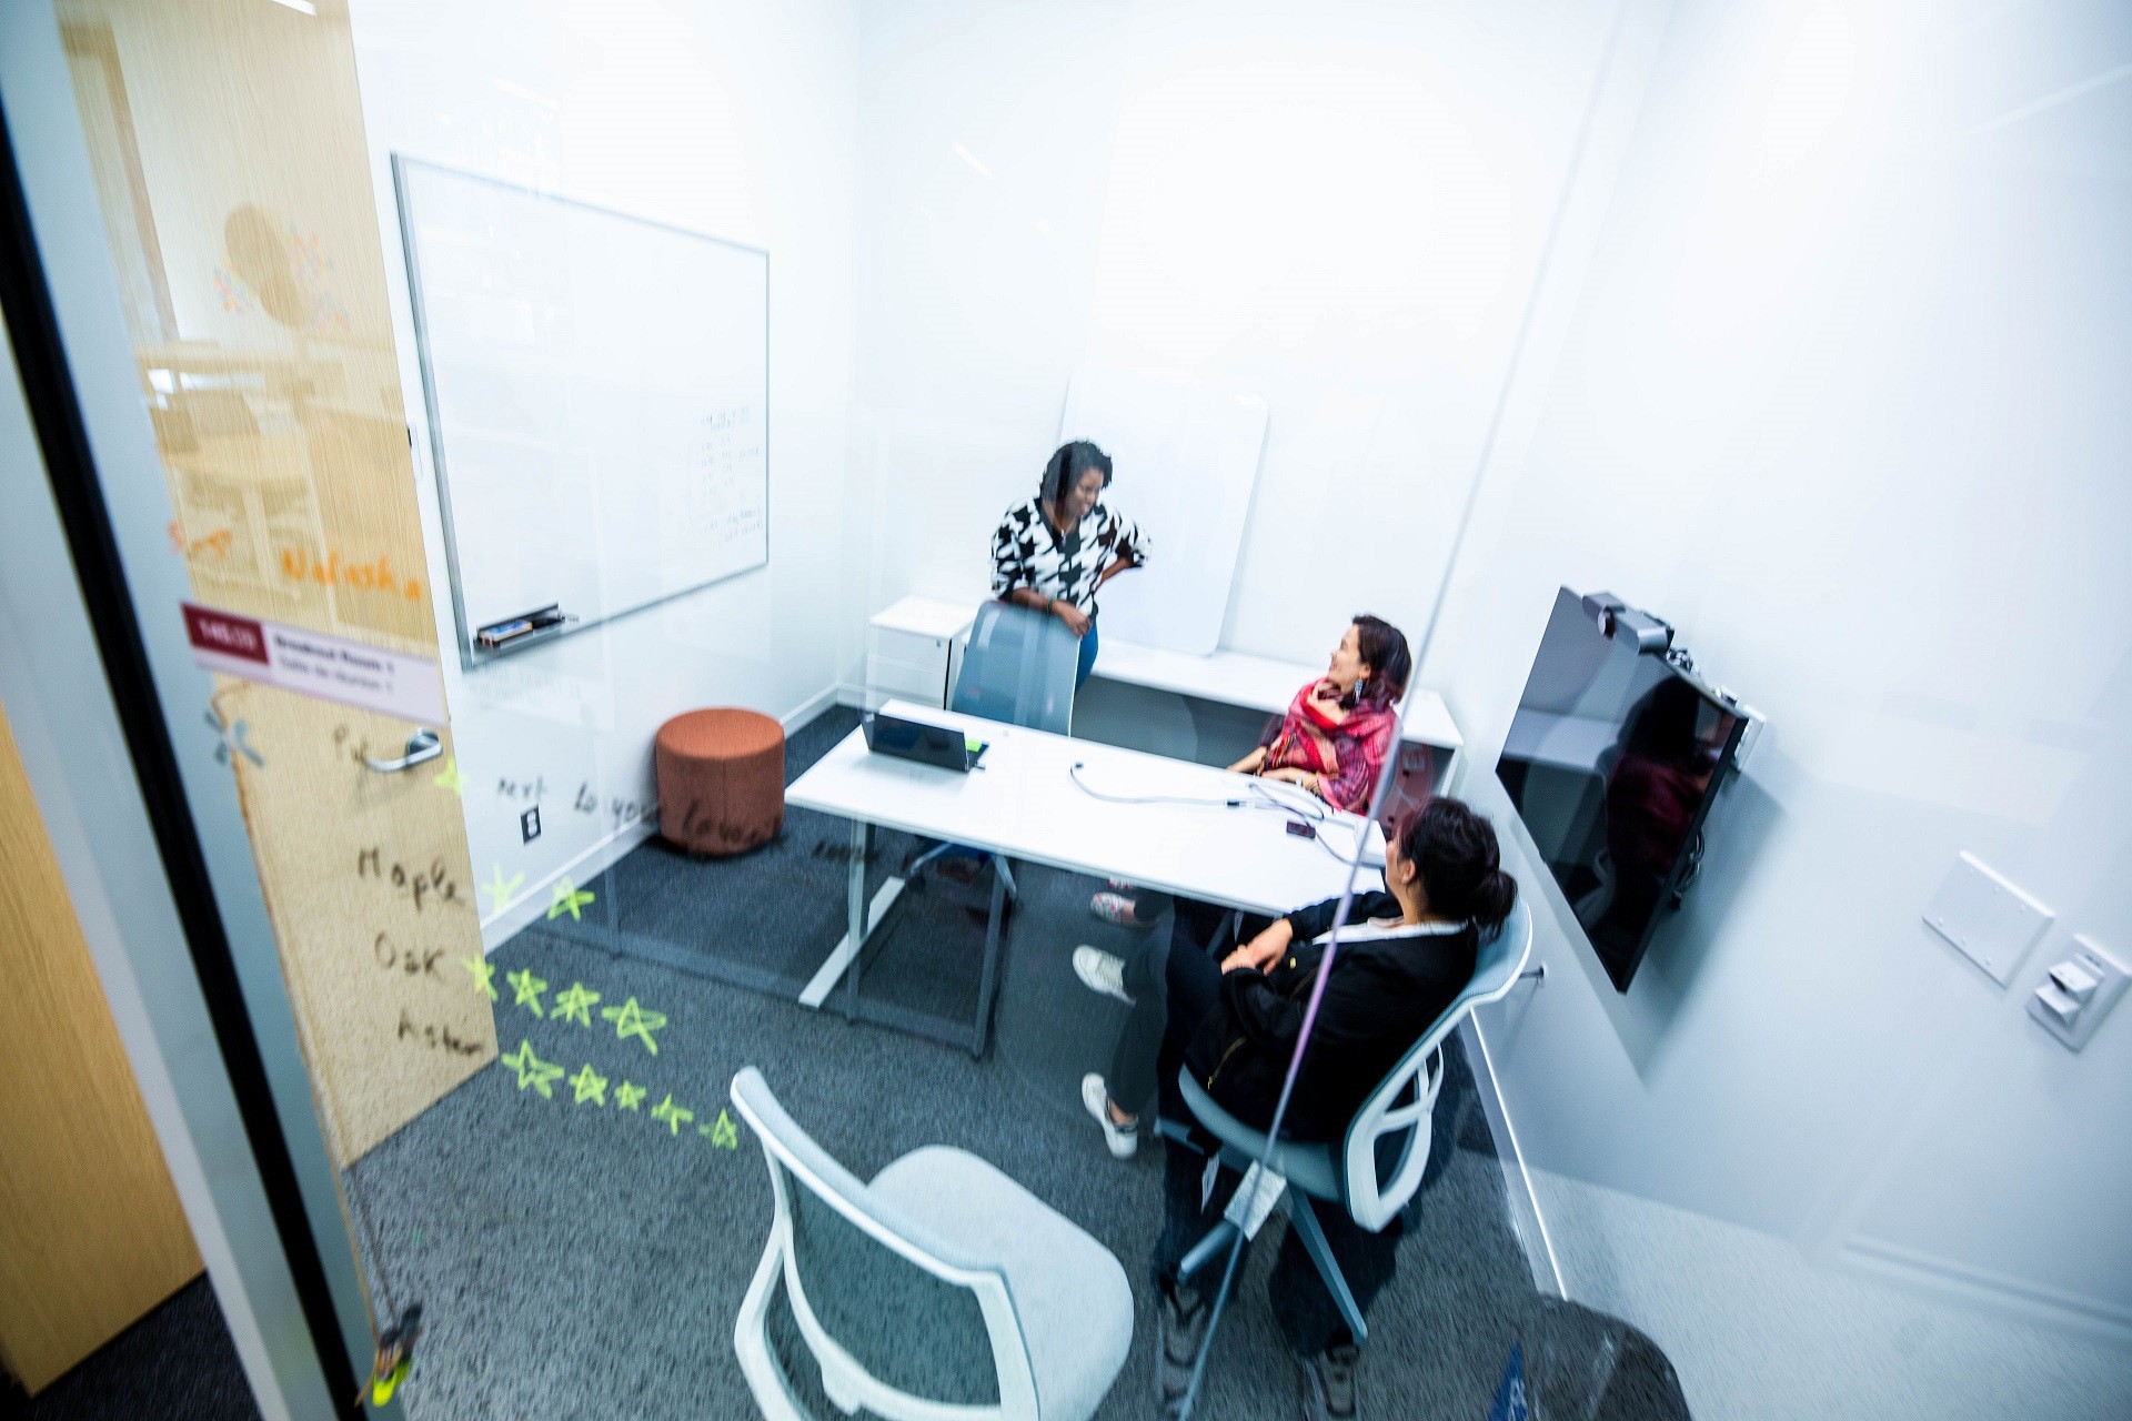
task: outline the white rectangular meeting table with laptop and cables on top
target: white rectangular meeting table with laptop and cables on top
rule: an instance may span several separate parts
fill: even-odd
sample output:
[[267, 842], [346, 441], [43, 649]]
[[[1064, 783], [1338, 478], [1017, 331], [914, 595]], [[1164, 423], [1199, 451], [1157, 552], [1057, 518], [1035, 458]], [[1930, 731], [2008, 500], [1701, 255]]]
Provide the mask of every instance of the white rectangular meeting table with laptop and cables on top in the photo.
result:
[[[1364, 865], [1384, 863], [1384, 835], [1375, 824], [1337, 814], [1283, 784], [906, 701], [891, 701], [883, 714], [959, 729], [987, 741], [989, 750], [964, 775], [872, 754], [863, 731], [853, 731], [785, 790], [789, 805], [851, 820], [846, 933], [800, 995], [806, 1006], [827, 1001], [842, 978], [846, 1012], [859, 1014], [863, 946], [904, 888], [904, 880], [889, 878], [872, 903], [866, 901], [874, 824], [968, 844], [1000, 859], [1023, 859], [1094, 878], [1126, 878], [1258, 914], [1281, 914], [1339, 895], [1347, 884], [1343, 854], [1354, 854], [1358, 842]], [[1290, 805], [1292, 812], [1269, 801]], [[1269, 807], [1247, 807], [1260, 803]], [[1290, 833], [1292, 820], [1311, 822], [1315, 835]], [[994, 876], [974, 1027], [949, 1033], [908, 1012], [872, 1008], [868, 1014], [983, 1055], [998, 989], [1000, 912], [1008, 886], [1008, 873]]]

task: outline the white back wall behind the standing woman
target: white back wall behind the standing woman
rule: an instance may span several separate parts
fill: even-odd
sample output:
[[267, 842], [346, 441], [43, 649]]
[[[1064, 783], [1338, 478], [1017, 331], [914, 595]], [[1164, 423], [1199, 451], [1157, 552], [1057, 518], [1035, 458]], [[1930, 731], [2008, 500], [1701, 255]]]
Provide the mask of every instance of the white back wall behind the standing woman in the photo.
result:
[[1362, 609], [1418, 633], [1616, 13], [868, 6], [853, 616], [983, 590], [1109, 360], [1271, 405], [1226, 646], [1318, 660]]

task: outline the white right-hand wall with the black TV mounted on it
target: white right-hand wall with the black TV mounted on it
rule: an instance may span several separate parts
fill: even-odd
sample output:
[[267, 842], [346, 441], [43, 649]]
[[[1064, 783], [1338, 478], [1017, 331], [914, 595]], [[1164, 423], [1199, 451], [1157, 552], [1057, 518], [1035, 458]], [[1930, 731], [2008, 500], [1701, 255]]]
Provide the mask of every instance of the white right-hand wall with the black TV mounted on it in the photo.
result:
[[[1893, 1415], [1861, 1366], [1902, 1415], [2015, 1415], [2010, 1357], [2019, 1415], [2132, 1406], [2132, 1014], [2079, 1057], [2023, 1014], [2074, 931], [2132, 952], [2128, 62], [2106, 4], [1682, 0], [1424, 667], [1499, 818], [1556, 584], [1676, 620], [1770, 716], [1629, 995], [1546, 884], [1554, 971], [1490, 1020], [1573, 1291], [1699, 1417]], [[2060, 914], [2010, 989], [1919, 920], [1957, 850]], [[1767, 1236], [1810, 1268], [1778, 1287]], [[1925, 1332], [2028, 1321], [1876, 1351], [1829, 1325], [1866, 1276]], [[1778, 1412], [1770, 1357], [1806, 1368]]]

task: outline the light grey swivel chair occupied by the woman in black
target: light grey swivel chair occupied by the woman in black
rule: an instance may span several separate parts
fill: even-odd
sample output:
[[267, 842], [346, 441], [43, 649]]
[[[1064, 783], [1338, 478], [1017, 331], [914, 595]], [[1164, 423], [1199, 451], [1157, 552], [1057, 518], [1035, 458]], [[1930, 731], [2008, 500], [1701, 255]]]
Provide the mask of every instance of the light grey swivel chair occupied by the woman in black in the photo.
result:
[[[1467, 989], [1443, 1008], [1422, 1040], [1371, 1091], [1354, 1121], [1347, 1123], [1347, 1136], [1341, 1144], [1335, 1148], [1332, 1144], [1283, 1140], [1273, 1148], [1273, 1172], [1288, 1180], [1281, 1195], [1288, 1202], [1288, 1225], [1296, 1231], [1311, 1263], [1318, 1265], [1318, 1276], [1324, 1278], [1326, 1291], [1339, 1304], [1341, 1319], [1356, 1342], [1364, 1340], [1369, 1329], [1362, 1325], [1362, 1310], [1356, 1308], [1347, 1278], [1341, 1276], [1326, 1244], [1324, 1227], [1318, 1223], [1318, 1204], [1345, 1208], [1347, 1216], [1371, 1234], [1384, 1229], [1407, 1206], [1428, 1167], [1431, 1114], [1437, 1106], [1437, 1091], [1443, 1089], [1443, 1038], [1475, 1006], [1501, 1001], [1518, 982], [1518, 974], [1524, 971], [1524, 959], [1531, 950], [1533, 912], [1520, 895], [1509, 918], [1503, 920], [1503, 929], [1490, 942], [1480, 944]], [[1198, 1123], [1222, 1142], [1224, 1165], [1249, 1170], [1266, 1155], [1266, 1136], [1217, 1106], [1190, 1069], [1177, 1074], [1177, 1087]], [[1164, 1125], [1164, 1133], [1183, 1133], [1168, 1123]], [[1207, 1238], [1192, 1246], [1179, 1274], [1190, 1278], [1234, 1238], [1232, 1223], [1217, 1223]]]

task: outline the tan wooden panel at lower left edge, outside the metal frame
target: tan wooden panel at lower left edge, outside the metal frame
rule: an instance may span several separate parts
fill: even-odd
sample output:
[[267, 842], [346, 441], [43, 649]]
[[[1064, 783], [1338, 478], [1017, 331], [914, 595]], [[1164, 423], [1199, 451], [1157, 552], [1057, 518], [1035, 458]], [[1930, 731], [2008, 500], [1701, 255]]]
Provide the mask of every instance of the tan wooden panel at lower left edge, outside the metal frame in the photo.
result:
[[0, 1361], [32, 1393], [200, 1255], [0, 716]]

